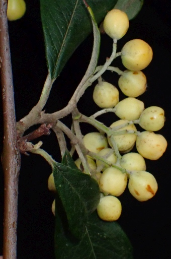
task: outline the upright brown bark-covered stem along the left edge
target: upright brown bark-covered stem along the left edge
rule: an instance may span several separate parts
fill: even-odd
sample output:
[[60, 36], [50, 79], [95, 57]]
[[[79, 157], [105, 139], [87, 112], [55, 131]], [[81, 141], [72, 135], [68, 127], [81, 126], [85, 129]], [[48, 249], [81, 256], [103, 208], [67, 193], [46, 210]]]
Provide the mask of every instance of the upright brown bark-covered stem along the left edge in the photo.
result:
[[4, 116], [4, 243], [3, 258], [17, 258], [17, 205], [20, 154], [17, 145], [7, 0], [0, 1], [0, 67]]

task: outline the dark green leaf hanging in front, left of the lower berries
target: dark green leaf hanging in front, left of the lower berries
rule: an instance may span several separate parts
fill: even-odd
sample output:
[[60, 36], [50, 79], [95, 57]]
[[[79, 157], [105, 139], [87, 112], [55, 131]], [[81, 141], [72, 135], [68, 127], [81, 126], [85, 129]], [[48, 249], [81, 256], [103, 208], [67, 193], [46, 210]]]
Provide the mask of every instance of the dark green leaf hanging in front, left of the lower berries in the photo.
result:
[[81, 238], [88, 216], [99, 204], [100, 190], [91, 176], [82, 173], [75, 165], [71, 168], [71, 158], [68, 154], [65, 156], [65, 165], [57, 162], [54, 164], [55, 186], [66, 212], [70, 231], [75, 237]]

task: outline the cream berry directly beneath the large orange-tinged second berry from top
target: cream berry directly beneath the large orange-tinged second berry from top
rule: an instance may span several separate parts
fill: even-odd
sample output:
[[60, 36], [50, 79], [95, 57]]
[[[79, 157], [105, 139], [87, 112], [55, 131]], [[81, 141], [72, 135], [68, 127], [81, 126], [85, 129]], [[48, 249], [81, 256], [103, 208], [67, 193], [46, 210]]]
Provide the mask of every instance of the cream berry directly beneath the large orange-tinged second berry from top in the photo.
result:
[[129, 97], [138, 97], [146, 91], [147, 80], [142, 71], [125, 70], [118, 80], [122, 93]]

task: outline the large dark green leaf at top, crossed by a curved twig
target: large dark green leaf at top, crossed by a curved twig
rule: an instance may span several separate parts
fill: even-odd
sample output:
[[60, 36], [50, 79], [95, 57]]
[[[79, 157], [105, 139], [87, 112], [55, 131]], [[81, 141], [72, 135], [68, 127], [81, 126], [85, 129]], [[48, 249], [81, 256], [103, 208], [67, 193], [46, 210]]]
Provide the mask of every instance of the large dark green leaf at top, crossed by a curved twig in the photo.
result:
[[[101, 22], [117, 0], [87, 0], [97, 23]], [[93, 30], [83, 0], [40, 0], [47, 66], [55, 79], [77, 46]]]

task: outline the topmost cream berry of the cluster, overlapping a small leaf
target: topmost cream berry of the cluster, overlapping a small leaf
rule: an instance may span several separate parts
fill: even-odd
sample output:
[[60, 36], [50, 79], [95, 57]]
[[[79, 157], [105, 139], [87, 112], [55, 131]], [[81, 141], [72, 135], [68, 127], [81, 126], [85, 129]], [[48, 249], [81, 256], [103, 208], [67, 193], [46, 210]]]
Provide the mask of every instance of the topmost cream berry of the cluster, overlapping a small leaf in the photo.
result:
[[129, 28], [128, 16], [121, 10], [113, 9], [107, 13], [103, 27], [112, 39], [121, 39]]

